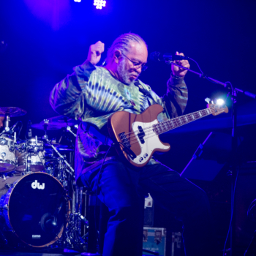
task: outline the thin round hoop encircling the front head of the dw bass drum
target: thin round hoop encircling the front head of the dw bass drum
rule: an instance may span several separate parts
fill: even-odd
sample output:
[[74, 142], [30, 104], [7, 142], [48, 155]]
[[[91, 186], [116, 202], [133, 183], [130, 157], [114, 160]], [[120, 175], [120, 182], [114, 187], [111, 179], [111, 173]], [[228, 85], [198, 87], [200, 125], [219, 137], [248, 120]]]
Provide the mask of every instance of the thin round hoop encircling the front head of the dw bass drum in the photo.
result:
[[[47, 175], [47, 176], [50, 176], [50, 177], [54, 178], [56, 181], [58, 181], [57, 178], [55, 178], [54, 176], [52, 176], [52, 175], [50, 175], [50, 174], [48, 174], [48, 173], [33, 172], [33, 173], [28, 173], [28, 174], [24, 175], [22, 178], [20, 178], [19, 180], [15, 181], [13, 184], [15, 184], [15, 186], [16, 186], [16, 184], [18, 184], [23, 178], [25, 178], [26, 176], [35, 174], [35, 173], [42, 173], [42, 174], [45, 174], [45, 175]], [[61, 187], [63, 187], [63, 185], [61, 184], [61, 182], [60, 182], [60, 181], [58, 181], [58, 182], [59, 182], [59, 184], [61, 185]], [[15, 189], [15, 186], [11, 188], [12, 191], [10, 192], [9, 200], [10, 200], [10, 197], [12, 196], [12, 192], [13, 192], [13, 190]], [[64, 188], [64, 187], [63, 187], [63, 188]], [[8, 192], [7, 192], [7, 193], [8, 193]], [[10, 223], [10, 227], [11, 227], [11, 229], [13, 230], [13, 233], [15, 233], [15, 236], [17, 236], [17, 237], [20, 239], [20, 241], [23, 241], [23, 240], [17, 235], [17, 233], [15, 232], [15, 229], [12, 227], [12, 222], [11, 222], [11, 219], [10, 219], [10, 211], [9, 211], [9, 200], [8, 200], [8, 208], [7, 208], [7, 213], [8, 213], [8, 214], [7, 214], [7, 216], [8, 216], [8, 221], [9, 221], [9, 223]], [[70, 209], [70, 202], [68, 202], [67, 225], [68, 225], [68, 220], [69, 220], [70, 212], [71, 212], [71, 209]], [[6, 222], [7, 222], [7, 220], [6, 220]], [[67, 226], [66, 226], [66, 227], [67, 227]], [[59, 234], [56, 236], [56, 238], [54, 238], [53, 241], [50, 241], [48, 244], [44, 244], [44, 245], [40, 245], [40, 246], [35, 246], [35, 245], [32, 245], [32, 244], [27, 243], [26, 241], [23, 241], [23, 243], [24, 243], [24, 244], [28, 244], [29, 246], [32, 246], [32, 247], [37, 247], [37, 248], [49, 246], [49, 245], [55, 243], [59, 238], [61, 238], [62, 233], [63, 233], [63, 230], [64, 230], [64, 225], [61, 227], [61, 230], [59, 231]]]

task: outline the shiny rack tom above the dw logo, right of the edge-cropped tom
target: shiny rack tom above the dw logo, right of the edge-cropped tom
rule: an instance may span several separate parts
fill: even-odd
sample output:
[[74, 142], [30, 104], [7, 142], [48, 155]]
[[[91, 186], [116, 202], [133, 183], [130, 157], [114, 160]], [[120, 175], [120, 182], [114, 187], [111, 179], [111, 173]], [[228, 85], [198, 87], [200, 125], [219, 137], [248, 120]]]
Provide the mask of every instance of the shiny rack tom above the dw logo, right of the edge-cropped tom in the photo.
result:
[[16, 151], [17, 167], [15, 170], [18, 172], [24, 172], [27, 169], [28, 157], [30, 154], [31, 172], [37, 172], [44, 170], [45, 165], [45, 150], [42, 140], [36, 140], [31, 138], [26, 142], [20, 143], [18, 150]]

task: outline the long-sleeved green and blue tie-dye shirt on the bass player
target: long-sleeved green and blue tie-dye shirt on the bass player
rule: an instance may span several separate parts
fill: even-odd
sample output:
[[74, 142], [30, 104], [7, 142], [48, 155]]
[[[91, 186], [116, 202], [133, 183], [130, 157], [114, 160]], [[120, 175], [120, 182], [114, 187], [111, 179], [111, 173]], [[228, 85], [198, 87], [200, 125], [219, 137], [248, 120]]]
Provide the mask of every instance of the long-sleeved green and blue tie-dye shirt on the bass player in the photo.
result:
[[[187, 105], [187, 86], [182, 78], [170, 78], [167, 81], [167, 94], [158, 97], [150, 86], [140, 82], [140, 86], [149, 92], [150, 97], [139, 91], [138, 86], [131, 83], [127, 86], [116, 80], [108, 69], [95, 67], [89, 61], [74, 68], [72, 75], [57, 83], [50, 94], [50, 105], [57, 113], [69, 118], [80, 119], [75, 148], [75, 176], [92, 170], [102, 162], [108, 150], [110, 140], [104, 143], [100, 135], [108, 135], [107, 122], [116, 111], [143, 113], [149, 105], [162, 105], [164, 111], [159, 114], [158, 121], [181, 115]], [[86, 124], [95, 128], [86, 130]], [[99, 135], [99, 136], [98, 136]], [[106, 160], [113, 157], [108, 154]], [[148, 164], [157, 163], [153, 158]]]

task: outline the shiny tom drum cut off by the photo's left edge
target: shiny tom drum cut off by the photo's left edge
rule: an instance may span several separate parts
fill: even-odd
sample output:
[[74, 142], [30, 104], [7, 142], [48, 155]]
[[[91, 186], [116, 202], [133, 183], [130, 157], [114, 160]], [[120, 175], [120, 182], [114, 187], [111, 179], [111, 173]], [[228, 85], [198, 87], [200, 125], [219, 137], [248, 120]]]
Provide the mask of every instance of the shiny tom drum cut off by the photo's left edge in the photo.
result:
[[15, 145], [12, 137], [0, 137], [0, 172], [9, 173], [16, 167]]

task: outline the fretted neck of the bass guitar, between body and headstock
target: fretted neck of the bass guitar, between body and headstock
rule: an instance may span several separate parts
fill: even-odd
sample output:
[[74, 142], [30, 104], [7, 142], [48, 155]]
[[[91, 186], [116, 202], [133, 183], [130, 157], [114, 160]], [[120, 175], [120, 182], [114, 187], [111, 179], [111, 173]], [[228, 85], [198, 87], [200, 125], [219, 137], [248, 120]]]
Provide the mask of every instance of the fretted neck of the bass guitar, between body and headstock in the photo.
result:
[[184, 124], [188, 124], [197, 119], [211, 115], [214, 112], [215, 112], [214, 108], [206, 108], [203, 110], [196, 111], [194, 113], [189, 113], [184, 116], [178, 116], [178, 117], [172, 118], [170, 120], [162, 121], [158, 124], [154, 124], [154, 126], [153, 126], [154, 132], [156, 132], [157, 135], [160, 135], [162, 133], [170, 131], [171, 129], [181, 127]]

